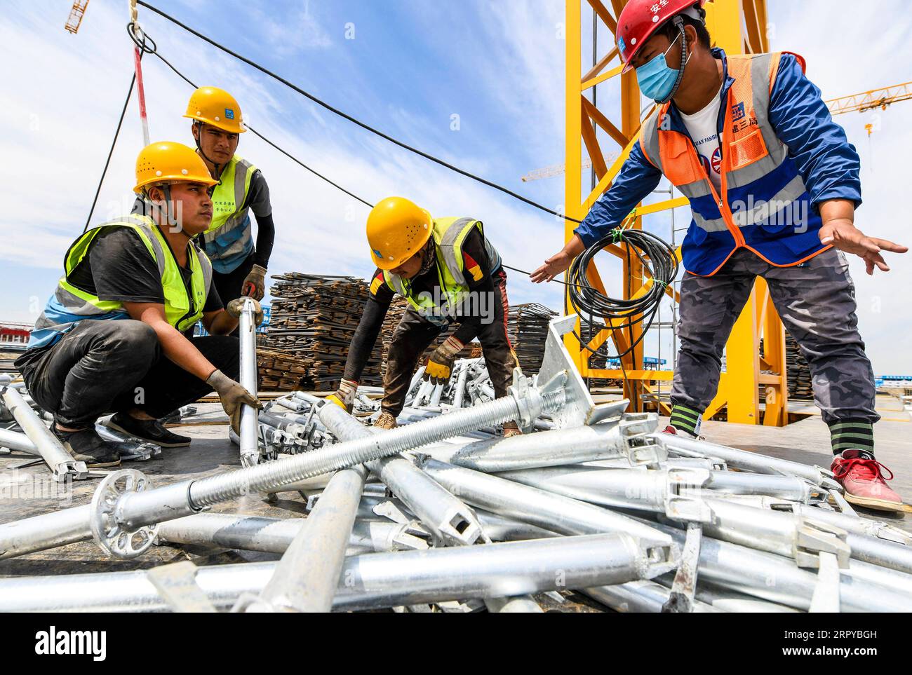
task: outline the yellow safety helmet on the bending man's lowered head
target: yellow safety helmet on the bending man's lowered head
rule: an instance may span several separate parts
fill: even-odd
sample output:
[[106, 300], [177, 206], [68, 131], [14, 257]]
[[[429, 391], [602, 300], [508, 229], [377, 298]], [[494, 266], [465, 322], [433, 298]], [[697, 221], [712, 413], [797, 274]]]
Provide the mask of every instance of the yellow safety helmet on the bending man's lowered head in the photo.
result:
[[394, 270], [430, 239], [430, 213], [404, 197], [378, 202], [368, 215], [370, 257], [381, 270]]

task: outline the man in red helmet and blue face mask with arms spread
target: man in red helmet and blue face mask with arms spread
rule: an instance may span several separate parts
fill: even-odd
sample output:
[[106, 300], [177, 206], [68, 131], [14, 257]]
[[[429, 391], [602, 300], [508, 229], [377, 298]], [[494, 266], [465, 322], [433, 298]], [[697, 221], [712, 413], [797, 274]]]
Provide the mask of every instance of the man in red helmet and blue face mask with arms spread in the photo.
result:
[[699, 434], [718, 389], [722, 349], [761, 276], [810, 363], [846, 498], [901, 509], [874, 455], [874, 374], [856, 327], [845, 253], [863, 258], [871, 274], [889, 270], [882, 251], [907, 248], [855, 227], [858, 155], [804, 76], [804, 59], [710, 48], [704, 1], [630, 0], [624, 7], [617, 20], [624, 70], [636, 68], [640, 91], [659, 105], [611, 189], [532, 279], [565, 271], [664, 175], [693, 213], [682, 246], [687, 273], [668, 433]]

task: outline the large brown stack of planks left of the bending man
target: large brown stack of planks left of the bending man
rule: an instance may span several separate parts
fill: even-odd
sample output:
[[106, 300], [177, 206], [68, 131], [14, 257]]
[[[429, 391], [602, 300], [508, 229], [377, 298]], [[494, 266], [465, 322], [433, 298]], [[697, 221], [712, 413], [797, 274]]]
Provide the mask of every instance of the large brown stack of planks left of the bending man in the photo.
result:
[[[345, 369], [348, 346], [358, 328], [368, 284], [357, 277], [288, 272], [275, 285], [269, 330], [259, 358], [264, 388], [331, 391]], [[360, 384], [381, 384], [381, 341]]]

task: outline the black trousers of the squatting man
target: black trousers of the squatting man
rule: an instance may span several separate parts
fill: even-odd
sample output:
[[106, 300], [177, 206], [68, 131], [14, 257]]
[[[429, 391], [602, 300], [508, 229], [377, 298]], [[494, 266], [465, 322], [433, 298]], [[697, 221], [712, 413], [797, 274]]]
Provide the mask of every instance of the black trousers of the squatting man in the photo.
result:
[[[190, 341], [212, 365], [238, 378], [237, 338], [207, 335]], [[132, 319], [79, 322], [54, 346], [23, 361], [28, 393], [57, 423], [71, 428], [134, 408], [164, 417], [212, 392], [161, 352], [148, 324]]]

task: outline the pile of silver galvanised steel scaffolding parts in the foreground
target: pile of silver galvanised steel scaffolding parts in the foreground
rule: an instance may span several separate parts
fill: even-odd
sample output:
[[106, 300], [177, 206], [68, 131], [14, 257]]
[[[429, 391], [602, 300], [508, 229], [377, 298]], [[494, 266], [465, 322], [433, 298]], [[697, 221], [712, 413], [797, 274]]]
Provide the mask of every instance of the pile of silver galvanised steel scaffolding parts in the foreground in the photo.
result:
[[[378, 390], [360, 417], [295, 392], [245, 415], [244, 468], [163, 487], [120, 469], [89, 505], [0, 525], [4, 558], [94, 538], [112, 558], [167, 542], [281, 559], [2, 578], [0, 609], [538, 612], [540, 594], [572, 590], [623, 612], [912, 608], [912, 536], [857, 516], [819, 466], [594, 404], [561, 342], [574, 322], [551, 322], [540, 372], [509, 396], [463, 360], [445, 385], [417, 373], [399, 427], [378, 430]], [[5, 402], [27, 438], [3, 444], [80, 470], [15, 388]], [[507, 420], [524, 435], [499, 435]], [[285, 491], [306, 518], [205, 513]]]

